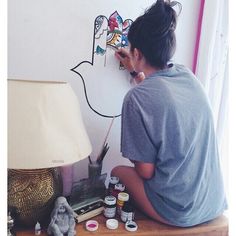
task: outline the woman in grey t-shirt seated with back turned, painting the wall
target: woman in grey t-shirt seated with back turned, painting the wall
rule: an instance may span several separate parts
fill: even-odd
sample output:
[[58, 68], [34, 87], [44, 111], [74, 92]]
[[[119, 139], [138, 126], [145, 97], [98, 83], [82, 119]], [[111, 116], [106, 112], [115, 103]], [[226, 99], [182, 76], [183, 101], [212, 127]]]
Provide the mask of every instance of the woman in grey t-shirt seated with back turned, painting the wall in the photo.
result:
[[121, 152], [134, 167], [118, 176], [154, 220], [181, 227], [226, 209], [208, 99], [186, 67], [168, 64], [176, 47], [176, 2], [158, 0], [132, 24], [130, 52], [116, 57], [138, 83], [124, 98]]

